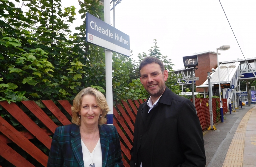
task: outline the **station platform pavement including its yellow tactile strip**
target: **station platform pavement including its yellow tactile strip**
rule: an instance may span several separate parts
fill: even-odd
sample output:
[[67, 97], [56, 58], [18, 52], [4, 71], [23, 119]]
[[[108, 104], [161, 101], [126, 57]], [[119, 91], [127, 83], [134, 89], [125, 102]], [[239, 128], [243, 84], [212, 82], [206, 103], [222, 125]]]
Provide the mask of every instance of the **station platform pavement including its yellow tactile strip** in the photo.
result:
[[207, 167], [256, 167], [256, 105], [236, 111], [204, 132]]

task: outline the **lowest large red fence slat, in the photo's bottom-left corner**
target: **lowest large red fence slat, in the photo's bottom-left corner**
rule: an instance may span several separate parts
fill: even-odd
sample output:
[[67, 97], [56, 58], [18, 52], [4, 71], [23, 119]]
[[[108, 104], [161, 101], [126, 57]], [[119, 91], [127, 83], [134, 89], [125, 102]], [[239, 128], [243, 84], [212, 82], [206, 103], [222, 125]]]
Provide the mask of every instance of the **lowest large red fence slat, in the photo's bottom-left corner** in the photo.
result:
[[[27, 161], [23, 156], [19, 155], [18, 152], [10, 148], [6, 143], [0, 140], [0, 156], [9, 161], [14, 166], [19, 167], [33, 167], [29, 161]], [[1, 165], [0, 165], [1, 167]], [[35, 166], [34, 166], [35, 167]]]

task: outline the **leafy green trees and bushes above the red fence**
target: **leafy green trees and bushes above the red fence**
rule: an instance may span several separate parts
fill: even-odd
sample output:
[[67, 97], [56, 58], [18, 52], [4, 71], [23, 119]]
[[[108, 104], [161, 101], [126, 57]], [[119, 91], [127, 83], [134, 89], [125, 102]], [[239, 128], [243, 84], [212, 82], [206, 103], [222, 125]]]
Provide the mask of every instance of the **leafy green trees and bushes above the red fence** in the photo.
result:
[[[76, 27], [79, 33], [70, 34], [75, 7], [60, 10], [60, 0], [27, 0], [19, 2], [19, 6], [1, 1], [0, 100], [72, 101], [82, 88], [89, 86], [105, 93], [105, 49], [85, 42], [85, 21]], [[99, 1], [82, 3], [78, 11], [82, 19], [86, 12], [104, 18]], [[113, 100], [149, 96], [138, 71], [146, 56], [163, 61], [169, 72], [167, 87], [180, 93], [171, 60], [162, 56], [156, 40], [153, 43], [149, 54], [138, 54], [136, 61], [113, 53]]]

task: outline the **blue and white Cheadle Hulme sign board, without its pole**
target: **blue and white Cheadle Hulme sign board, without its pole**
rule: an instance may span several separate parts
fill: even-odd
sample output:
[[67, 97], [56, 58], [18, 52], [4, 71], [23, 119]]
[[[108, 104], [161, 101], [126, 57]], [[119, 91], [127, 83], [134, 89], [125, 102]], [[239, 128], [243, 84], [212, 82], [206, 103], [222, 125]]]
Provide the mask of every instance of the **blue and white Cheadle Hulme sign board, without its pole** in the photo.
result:
[[130, 36], [88, 12], [85, 41], [130, 57]]

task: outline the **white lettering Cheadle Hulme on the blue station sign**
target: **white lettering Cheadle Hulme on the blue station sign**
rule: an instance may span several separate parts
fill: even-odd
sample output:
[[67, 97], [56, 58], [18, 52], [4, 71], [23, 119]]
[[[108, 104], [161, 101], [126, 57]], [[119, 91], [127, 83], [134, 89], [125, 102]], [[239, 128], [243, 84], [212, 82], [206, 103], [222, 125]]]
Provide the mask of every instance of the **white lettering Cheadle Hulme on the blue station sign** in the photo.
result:
[[[102, 33], [102, 34], [104, 34], [104, 35], [106, 35], [106, 36], [109, 36], [109, 37], [113, 38], [113, 33], [110, 32], [109, 29], [106, 29], [106, 30], [105, 30], [104, 28], [98, 27], [98, 26], [96, 25], [96, 22], [91, 21], [91, 22], [90, 22], [90, 26], [91, 26], [91, 28], [92, 28], [93, 30], [96, 30], [96, 31], [98, 31], [98, 32], [100, 32], [100, 33]], [[114, 36], [115, 36], [115, 40], [117, 40], [117, 41], [119, 41], [119, 42], [122, 42], [122, 43], [124, 43], [124, 44], [126, 44], [126, 45], [129, 45], [128, 41], [125, 40], [125, 39], [123, 39], [122, 36], [120, 37], [120, 36], [118, 36], [118, 34], [116, 34], [116, 33], [115, 33]]]

